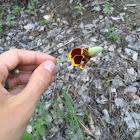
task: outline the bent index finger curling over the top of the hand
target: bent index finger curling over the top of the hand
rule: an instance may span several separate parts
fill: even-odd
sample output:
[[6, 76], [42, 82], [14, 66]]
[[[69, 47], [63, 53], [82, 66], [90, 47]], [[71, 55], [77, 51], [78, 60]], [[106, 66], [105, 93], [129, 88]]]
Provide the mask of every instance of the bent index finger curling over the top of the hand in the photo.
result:
[[0, 82], [4, 82], [9, 71], [18, 65], [39, 65], [46, 60], [55, 62], [53, 56], [42, 52], [12, 49], [0, 55]]

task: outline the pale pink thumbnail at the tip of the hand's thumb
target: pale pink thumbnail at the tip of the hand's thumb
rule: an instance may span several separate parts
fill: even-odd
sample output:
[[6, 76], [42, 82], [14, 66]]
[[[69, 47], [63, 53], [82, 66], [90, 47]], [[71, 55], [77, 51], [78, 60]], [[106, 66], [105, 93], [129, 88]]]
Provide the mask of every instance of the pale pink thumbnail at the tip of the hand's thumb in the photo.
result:
[[53, 74], [53, 71], [55, 69], [55, 64], [50, 61], [50, 60], [47, 60], [44, 64], [44, 68], [49, 71], [51, 74]]

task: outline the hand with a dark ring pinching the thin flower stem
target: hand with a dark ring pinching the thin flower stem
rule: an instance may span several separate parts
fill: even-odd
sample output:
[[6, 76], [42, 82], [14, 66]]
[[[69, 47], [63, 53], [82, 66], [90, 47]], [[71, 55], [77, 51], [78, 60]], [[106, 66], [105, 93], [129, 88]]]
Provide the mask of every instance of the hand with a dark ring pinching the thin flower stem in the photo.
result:
[[[54, 81], [55, 58], [35, 51], [12, 49], [0, 55], [0, 139], [20, 140], [41, 94]], [[9, 76], [18, 67], [21, 72]], [[33, 72], [27, 73], [27, 71]], [[24, 88], [9, 88], [25, 85]]]

